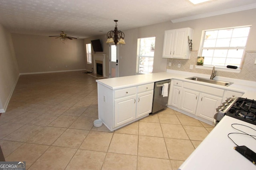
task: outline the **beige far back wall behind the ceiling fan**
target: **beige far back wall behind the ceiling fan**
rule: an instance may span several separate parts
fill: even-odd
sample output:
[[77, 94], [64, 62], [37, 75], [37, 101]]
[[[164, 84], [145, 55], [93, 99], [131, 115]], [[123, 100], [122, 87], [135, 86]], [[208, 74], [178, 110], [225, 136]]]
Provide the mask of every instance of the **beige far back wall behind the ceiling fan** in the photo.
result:
[[20, 73], [85, 69], [83, 39], [12, 33]]

